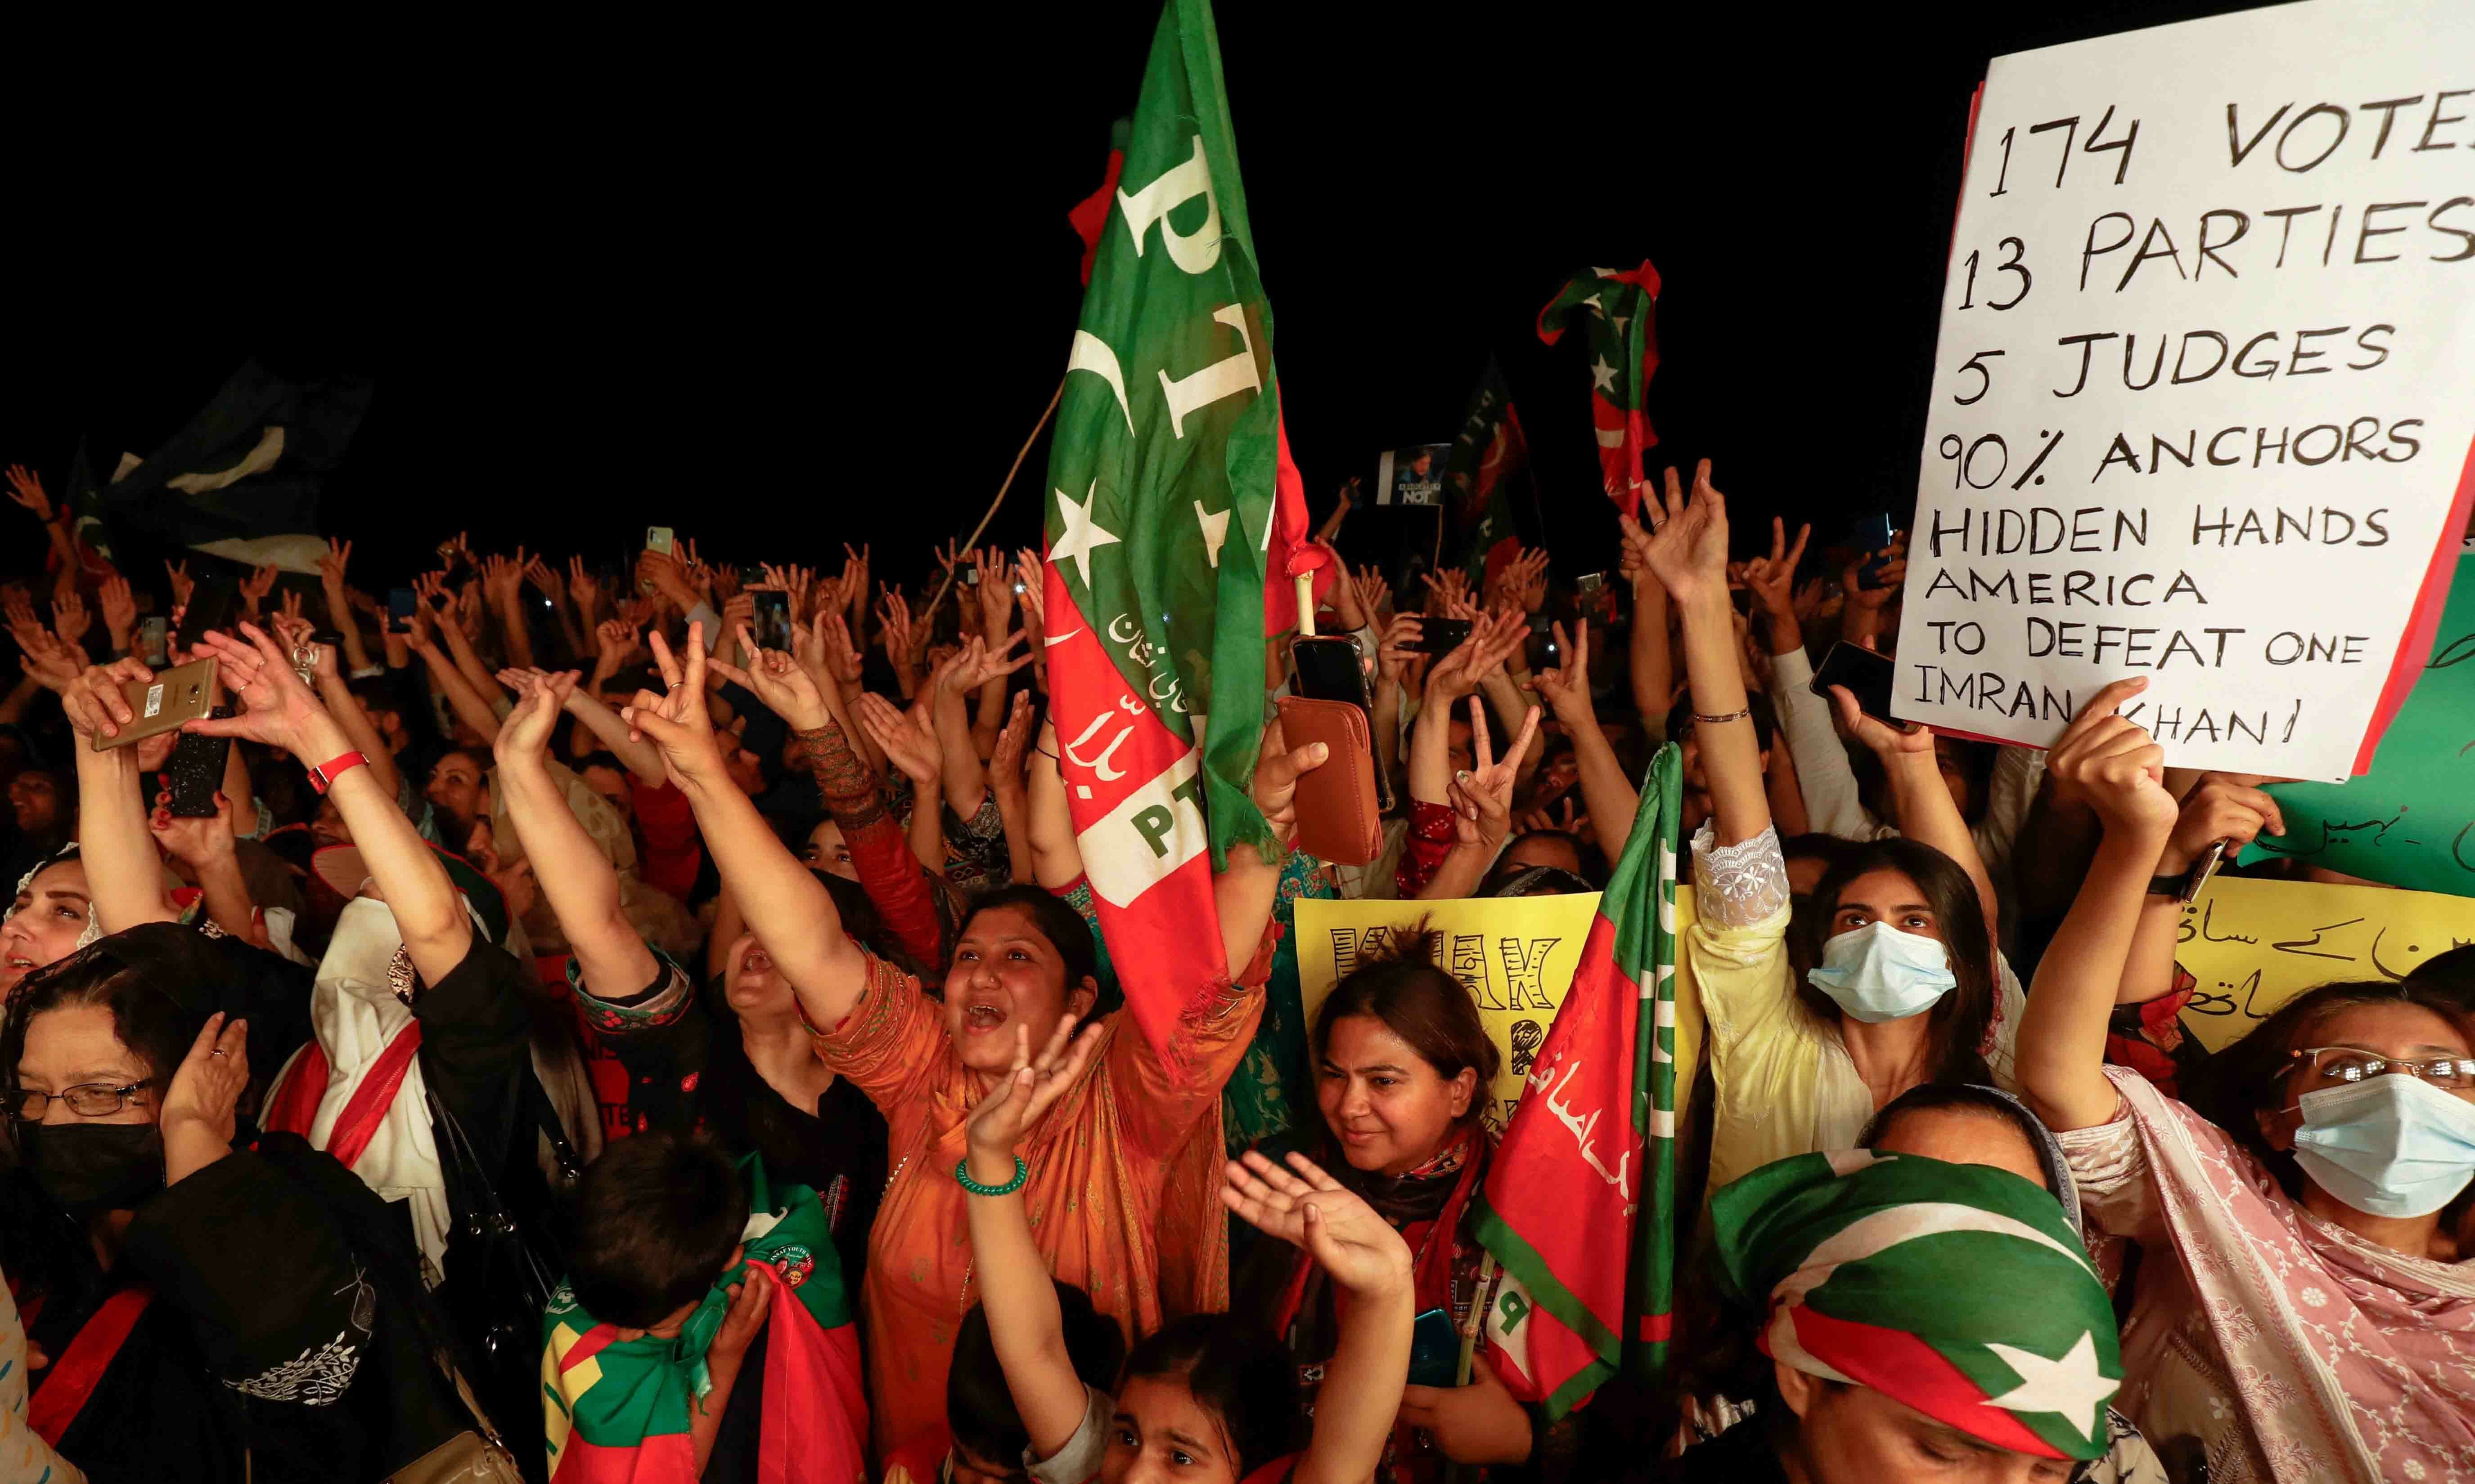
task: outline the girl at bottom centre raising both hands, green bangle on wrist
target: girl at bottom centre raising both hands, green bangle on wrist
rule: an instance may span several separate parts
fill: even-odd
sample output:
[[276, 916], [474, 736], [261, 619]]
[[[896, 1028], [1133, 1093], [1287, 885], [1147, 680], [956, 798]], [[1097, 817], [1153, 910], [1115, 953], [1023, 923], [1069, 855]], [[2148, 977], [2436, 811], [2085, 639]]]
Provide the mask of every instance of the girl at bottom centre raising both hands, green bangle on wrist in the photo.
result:
[[970, 1247], [988, 1333], [1032, 1439], [1025, 1467], [1042, 1484], [1178, 1479], [1193, 1484], [1361, 1484], [1374, 1479], [1401, 1410], [1413, 1318], [1401, 1237], [1304, 1155], [1280, 1170], [1257, 1153], [1228, 1165], [1220, 1200], [1255, 1227], [1304, 1247], [1344, 1291], [1339, 1345], [1324, 1373], [1314, 1439], [1292, 1452], [1294, 1368], [1260, 1323], [1198, 1313], [1134, 1348], [1116, 1397], [1074, 1375], [1057, 1291], [1032, 1242], [1015, 1140], [1077, 1086], [1101, 1044], [1059, 1021], [1040, 1059], [1015, 1029], [1015, 1068], [970, 1115], [955, 1180], [970, 1192]]

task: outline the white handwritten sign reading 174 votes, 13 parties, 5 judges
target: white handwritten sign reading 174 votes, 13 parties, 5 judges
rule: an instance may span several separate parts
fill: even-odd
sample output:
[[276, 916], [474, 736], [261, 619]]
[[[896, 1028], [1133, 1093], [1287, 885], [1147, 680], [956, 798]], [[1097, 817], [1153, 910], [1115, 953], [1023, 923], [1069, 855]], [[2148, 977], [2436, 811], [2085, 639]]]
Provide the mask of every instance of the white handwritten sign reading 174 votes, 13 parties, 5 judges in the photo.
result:
[[2475, 2], [2317, 0], [1997, 57], [1893, 712], [2344, 779], [2475, 440]]

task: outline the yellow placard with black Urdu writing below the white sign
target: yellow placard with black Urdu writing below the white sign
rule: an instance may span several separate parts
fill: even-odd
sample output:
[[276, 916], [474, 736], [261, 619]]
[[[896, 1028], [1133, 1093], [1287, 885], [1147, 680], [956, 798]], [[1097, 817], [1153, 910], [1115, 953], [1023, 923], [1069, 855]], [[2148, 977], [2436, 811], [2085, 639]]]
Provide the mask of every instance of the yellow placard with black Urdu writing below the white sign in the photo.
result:
[[2183, 908], [2173, 957], [2198, 979], [2183, 1029], [2220, 1051], [2314, 984], [2403, 979], [2465, 942], [2475, 898], [2218, 876]]

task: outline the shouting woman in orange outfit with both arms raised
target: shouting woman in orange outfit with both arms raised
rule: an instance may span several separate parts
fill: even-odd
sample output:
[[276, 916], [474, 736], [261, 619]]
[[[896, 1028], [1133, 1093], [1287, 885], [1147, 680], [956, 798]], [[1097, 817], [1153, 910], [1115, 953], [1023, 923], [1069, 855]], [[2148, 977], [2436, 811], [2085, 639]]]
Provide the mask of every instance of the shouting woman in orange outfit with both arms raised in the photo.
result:
[[[943, 1004], [854, 942], [834, 898], [723, 772], [705, 717], [700, 641], [693, 626], [683, 655], [653, 641], [668, 695], [636, 695], [626, 717], [663, 749], [671, 779], [695, 806], [723, 881], [799, 994], [817, 1059], [886, 1115], [893, 1177], [861, 1289], [869, 1410], [884, 1449], [943, 1422], [955, 1326], [975, 1296], [965, 1187], [955, 1180], [970, 1108], [1012, 1068], [1017, 1024], [1044, 1041], [1062, 1014], [1091, 1009], [1091, 932], [1042, 890], [980, 898], [955, 937]], [[792, 730], [832, 725], [790, 655], [762, 653], [747, 675]], [[1265, 732], [1252, 796], [1282, 841], [1297, 831], [1297, 779], [1322, 762], [1319, 744], [1285, 747], [1277, 722]], [[1215, 878], [1220, 937], [1195, 942], [1195, 955], [1208, 955], [1220, 992], [1178, 1021], [1171, 1056], [1181, 1068], [1163, 1066], [1126, 1017], [1104, 1017], [1079, 1083], [1022, 1135], [1017, 1180], [1042, 1256], [1129, 1336], [1225, 1303], [1215, 1118], [1220, 1083], [1262, 1017], [1262, 940], [1277, 881], [1280, 856], [1265, 861], [1250, 846], [1235, 846]]]

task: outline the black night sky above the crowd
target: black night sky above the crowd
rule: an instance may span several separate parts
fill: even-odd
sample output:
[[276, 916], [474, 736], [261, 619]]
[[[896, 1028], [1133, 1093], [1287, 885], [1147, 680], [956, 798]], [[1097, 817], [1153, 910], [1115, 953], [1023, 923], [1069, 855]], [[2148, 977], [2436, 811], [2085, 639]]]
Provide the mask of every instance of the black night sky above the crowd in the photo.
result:
[[[1586, 356], [1534, 314], [1641, 257], [1666, 279], [1656, 463], [1708, 455], [1824, 539], [1906, 512], [1987, 57], [2240, 7], [1223, 2], [1312, 512], [1381, 448], [1450, 438], [1492, 351], [1559, 571], [1606, 566]], [[916, 579], [1057, 386], [1064, 213], [1158, 17], [1040, 10], [141, 59], [17, 37], [0, 460], [57, 492], [82, 433], [101, 467], [146, 453], [257, 354], [379, 378], [324, 507], [364, 586], [453, 529], [616, 559], [648, 524], [733, 561], [866, 539]], [[1037, 539], [1044, 465], [1042, 440], [997, 539]], [[1344, 549], [1403, 539], [1388, 519]], [[7, 529], [27, 559], [0, 569], [32, 566], [32, 522], [0, 507]]]

